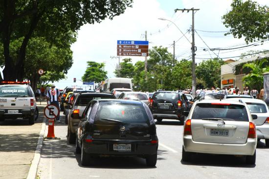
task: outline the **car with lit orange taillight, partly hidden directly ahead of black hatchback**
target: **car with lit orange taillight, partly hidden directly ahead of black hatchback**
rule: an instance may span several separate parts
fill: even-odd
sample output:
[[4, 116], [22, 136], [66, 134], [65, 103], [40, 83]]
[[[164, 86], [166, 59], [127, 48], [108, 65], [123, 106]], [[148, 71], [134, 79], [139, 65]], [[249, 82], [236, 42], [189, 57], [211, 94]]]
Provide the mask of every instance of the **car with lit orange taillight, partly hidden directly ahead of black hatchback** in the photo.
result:
[[92, 99], [115, 99], [115, 96], [109, 93], [92, 93], [80, 92], [76, 95], [72, 105], [67, 105], [69, 109], [67, 115], [67, 139], [69, 143], [75, 143], [75, 131], [78, 126], [79, 119], [73, 119], [74, 114], [82, 116], [83, 111]]

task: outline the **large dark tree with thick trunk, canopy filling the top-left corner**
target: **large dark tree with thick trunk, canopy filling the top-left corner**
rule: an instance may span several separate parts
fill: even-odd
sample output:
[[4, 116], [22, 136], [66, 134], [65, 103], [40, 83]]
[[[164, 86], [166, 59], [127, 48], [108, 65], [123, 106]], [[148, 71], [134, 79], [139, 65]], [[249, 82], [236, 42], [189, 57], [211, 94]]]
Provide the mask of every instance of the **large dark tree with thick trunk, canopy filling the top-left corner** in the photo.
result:
[[[3, 45], [5, 80], [22, 80], [26, 47], [31, 37], [44, 37], [57, 47], [67, 47], [67, 36], [83, 24], [122, 14], [133, 0], [2, 0], [0, 41]], [[16, 58], [10, 55], [12, 40], [22, 38]], [[63, 43], [63, 42], [67, 43]], [[2, 78], [2, 77], [1, 77]], [[0, 79], [1, 80], [1, 79]]]

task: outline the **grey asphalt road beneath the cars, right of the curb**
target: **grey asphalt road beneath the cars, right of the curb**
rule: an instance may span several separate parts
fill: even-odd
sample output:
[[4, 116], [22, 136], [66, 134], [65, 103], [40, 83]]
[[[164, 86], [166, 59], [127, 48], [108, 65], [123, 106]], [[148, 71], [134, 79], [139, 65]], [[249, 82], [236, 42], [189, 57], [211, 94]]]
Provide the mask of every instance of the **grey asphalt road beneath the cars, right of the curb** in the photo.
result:
[[182, 126], [176, 120], [157, 123], [159, 138], [156, 167], [147, 167], [140, 158], [96, 158], [90, 166], [81, 165], [75, 145], [67, 143], [67, 125], [62, 117], [56, 123], [55, 136], [45, 140], [38, 168], [40, 179], [266, 179], [269, 178], [269, 148], [258, 143], [256, 165], [245, 159], [223, 155], [194, 155], [192, 162], [182, 162]]

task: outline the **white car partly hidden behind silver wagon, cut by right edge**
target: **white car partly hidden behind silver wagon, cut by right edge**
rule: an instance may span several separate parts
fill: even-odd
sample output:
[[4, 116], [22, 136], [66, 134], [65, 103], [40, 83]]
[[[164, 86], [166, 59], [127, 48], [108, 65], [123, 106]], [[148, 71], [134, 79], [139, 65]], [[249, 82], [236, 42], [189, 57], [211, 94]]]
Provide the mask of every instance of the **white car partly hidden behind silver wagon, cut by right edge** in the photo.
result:
[[265, 139], [266, 147], [269, 147], [269, 109], [267, 104], [261, 99], [242, 98], [241, 100], [247, 103], [251, 114], [257, 115], [258, 118], [253, 121], [256, 124], [258, 140]]

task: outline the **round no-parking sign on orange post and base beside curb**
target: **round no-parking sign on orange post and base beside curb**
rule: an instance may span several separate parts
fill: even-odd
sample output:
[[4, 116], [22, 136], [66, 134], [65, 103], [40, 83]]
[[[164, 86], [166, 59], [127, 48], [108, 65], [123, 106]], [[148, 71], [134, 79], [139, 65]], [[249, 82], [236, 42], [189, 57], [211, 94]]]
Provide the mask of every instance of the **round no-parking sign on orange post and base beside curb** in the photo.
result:
[[59, 107], [55, 105], [47, 105], [44, 109], [44, 115], [48, 119], [48, 132], [46, 139], [55, 139], [54, 135], [54, 119], [60, 115]]

